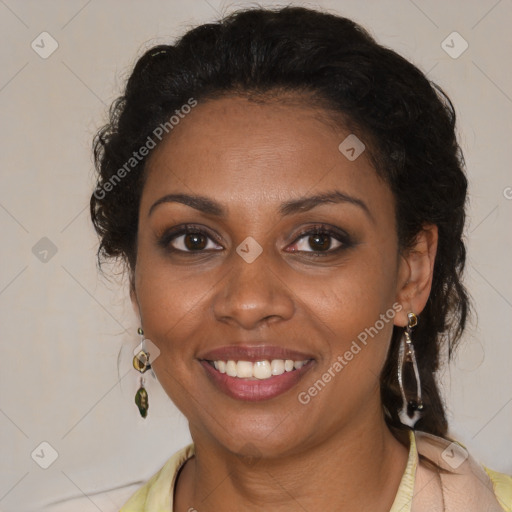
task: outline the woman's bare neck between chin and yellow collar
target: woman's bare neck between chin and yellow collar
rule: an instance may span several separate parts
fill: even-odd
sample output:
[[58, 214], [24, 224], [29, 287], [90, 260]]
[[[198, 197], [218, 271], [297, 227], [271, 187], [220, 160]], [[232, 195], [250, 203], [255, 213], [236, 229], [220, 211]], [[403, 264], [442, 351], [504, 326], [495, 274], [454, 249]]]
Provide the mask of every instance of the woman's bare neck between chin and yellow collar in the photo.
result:
[[346, 428], [298, 454], [272, 459], [244, 460], [195, 437], [196, 456], [176, 488], [178, 512], [389, 511], [408, 455], [382, 417], [377, 428]]

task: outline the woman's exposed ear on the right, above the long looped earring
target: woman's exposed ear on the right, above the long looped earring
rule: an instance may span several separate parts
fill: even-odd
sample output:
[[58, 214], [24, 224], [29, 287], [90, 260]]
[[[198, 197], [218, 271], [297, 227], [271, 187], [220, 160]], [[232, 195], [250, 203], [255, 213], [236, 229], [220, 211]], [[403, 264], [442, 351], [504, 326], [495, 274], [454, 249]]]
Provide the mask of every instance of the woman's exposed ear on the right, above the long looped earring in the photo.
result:
[[423, 226], [412, 247], [402, 251], [399, 261], [396, 301], [402, 310], [395, 315], [395, 325], [407, 325], [407, 313], [420, 315], [432, 288], [437, 253], [438, 230], [435, 224]]

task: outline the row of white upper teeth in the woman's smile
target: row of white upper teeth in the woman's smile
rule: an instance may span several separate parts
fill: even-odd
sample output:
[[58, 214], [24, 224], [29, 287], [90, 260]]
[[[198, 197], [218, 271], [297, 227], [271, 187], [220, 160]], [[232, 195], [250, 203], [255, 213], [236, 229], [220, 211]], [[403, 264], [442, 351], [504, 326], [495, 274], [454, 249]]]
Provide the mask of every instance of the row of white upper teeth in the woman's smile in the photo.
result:
[[212, 362], [216, 370], [220, 373], [225, 373], [229, 377], [265, 380], [276, 375], [282, 375], [285, 372], [299, 370], [308, 360], [293, 361], [292, 359], [272, 359], [272, 361], [263, 360], [254, 363], [251, 361], [233, 360]]

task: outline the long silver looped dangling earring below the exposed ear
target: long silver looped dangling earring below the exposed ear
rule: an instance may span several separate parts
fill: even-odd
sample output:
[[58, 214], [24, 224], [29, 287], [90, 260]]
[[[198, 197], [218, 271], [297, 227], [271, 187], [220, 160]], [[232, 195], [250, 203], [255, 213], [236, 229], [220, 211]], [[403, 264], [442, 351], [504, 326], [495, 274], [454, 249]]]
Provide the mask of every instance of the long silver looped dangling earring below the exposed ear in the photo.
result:
[[[416, 362], [416, 353], [411, 340], [411, 332], [418, 325], [418, 317], [414, 313], [407, 315], [407, 327], [404, 329], [402, 339], [400, 341], [400, 349], [398, 351], [398, 384], [402, 395], [402, 408], [398, 411], [400, 421], [404, 425], [414, 428], [416, 422], [421, 418], [423, 411], [423, 400], [421, 398], [421, 381]], [[411, 363], [416, 379], [416, 399], [407, 400], [403, 383], [403, 367], [404, 363]]]

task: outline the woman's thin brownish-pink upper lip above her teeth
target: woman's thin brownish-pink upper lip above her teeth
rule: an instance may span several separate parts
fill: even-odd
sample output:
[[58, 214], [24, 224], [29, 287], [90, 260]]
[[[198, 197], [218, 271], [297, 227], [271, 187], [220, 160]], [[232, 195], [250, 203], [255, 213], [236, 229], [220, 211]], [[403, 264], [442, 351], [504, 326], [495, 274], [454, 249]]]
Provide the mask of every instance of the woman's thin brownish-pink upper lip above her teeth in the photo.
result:
[[207, 361], [264, 361], [272, 359], [292, 359], [306, 361], [312, 355], [274, 345], [225, 345], [203, 352], [198, 359]]

